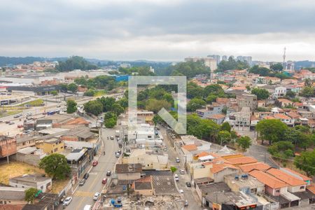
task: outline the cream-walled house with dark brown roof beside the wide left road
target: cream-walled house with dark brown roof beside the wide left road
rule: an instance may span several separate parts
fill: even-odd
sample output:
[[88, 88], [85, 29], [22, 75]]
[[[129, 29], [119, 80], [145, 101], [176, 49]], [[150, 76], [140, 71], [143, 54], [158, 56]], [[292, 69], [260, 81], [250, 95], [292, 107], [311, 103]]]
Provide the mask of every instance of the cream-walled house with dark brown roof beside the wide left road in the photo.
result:
[[136, 164], [116, 164], [115, 173], [118, 180], [137, 180], [141, 178], [142, 165]]

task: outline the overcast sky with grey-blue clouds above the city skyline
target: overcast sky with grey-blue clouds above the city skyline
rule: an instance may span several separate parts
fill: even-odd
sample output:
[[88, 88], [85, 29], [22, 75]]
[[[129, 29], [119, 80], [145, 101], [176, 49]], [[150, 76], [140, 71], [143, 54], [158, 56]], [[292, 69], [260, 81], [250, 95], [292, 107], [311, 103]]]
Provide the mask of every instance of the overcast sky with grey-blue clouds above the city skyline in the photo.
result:
[[313, 0], [0, 0], [0, 55], [315, 60]]

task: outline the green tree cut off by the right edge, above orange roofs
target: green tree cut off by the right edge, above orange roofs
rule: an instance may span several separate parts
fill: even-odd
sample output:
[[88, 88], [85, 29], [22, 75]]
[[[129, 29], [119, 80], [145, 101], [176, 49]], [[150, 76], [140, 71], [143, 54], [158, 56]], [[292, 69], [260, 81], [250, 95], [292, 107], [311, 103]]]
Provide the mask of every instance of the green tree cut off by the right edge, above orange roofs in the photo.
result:
[[294, 165], [307, 173], [307, 176], [315, 175], [315, 149], [311, 152], [302, 152], [300, 156], [296, 156]]

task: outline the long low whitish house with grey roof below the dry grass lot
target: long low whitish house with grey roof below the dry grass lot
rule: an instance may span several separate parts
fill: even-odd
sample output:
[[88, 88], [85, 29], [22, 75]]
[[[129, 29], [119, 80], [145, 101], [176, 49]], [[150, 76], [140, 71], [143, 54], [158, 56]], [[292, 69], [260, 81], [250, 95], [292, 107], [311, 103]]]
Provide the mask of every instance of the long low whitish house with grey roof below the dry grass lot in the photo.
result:
[[9, 180], [9, 185], [15, 188], [36, 188], [45, 193], [52, 188], [52, 180], [43, 174], [24, 174]]

